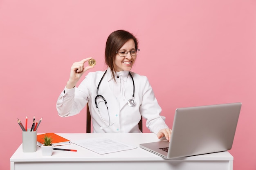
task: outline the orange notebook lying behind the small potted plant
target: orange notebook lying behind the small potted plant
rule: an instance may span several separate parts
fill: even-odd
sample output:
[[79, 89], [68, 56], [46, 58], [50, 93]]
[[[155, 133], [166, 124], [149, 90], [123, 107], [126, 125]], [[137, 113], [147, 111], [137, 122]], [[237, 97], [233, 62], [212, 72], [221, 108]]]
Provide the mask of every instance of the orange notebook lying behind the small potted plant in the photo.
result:
[[59, 135], [56, 135], [55, 133], [44, 133], [44, 134], [37, 135], [38, 146], [41, 147], [43, 145], [43, 138], [45, 137], [45, 135], [47, 135], [48, 137], [52, 137], [52, 144], [54, 146], [71, 144], [70, 140], [65, 139], [64, 137], [61, 137]]

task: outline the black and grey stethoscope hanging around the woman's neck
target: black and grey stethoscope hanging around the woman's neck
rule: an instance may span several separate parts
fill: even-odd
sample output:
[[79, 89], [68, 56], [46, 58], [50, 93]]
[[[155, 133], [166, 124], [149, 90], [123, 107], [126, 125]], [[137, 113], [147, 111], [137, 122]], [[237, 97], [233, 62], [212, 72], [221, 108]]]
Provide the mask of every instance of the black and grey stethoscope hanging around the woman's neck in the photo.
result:
[[[101, 119], [103, 120], [104, 124], [106, 124], [106, 121], [103, 119], [103, 117], [102, 117], [102, 115], [101, 115], [101, 112], [99, 111], [98, 104], [97, 104], [97, 98], [98, 98], [98, 97], [101, 97], [101, 98], [104, 100], [105, 105], [106, 105], [106, 108], [107, 108], [107, 110], [108, 110], [108, 104], [107, 104], [106, 99], [105, 99], [102, 95], [99, 95], [99, 86], [100, 86], [100, 84], [101, 84], [102, 79], [103, 79], [104, 76], [106, 75], [106, 73], [107, 73], [107, 71], [105, 71], [105, 73], [104, 73], [103, 76], [101, 77], [101, 80], [99, 81], [99, 85], [98, 85], [97, 91], [96, 91], [97, 96], [95, 97], [95, 105], [96, 105], [96, 108], [98, 109], [99, 115], [101, 116]], [[130, 71], [129, 71], [129, 75], [130, 75], [130, 77], [132, 78], [133, 93], [132, 93], [132, 98], [129, 99], [127, 103], [128, 103], [128, 106], [133, 107], [133, 106], [136, 105], [136, 103], [135, 103], [135, 101], [134, 101], [135, 85], [134, 85], [134, 80], [133, 80], [133, 77], [132, 77]], [[112, 124], [110, 125], [110, 115], [109, 115], [109, 112], [108, 112], [108, 124], [106, 124], [107, 127], [104, 127], [104, 128], [108, 128], [108, 127], [112, 126], [113, 124], [114, 124], [114, 123], [112, 123]], [[103, 127], [101, 127], [101, 129], [103, 129]]]

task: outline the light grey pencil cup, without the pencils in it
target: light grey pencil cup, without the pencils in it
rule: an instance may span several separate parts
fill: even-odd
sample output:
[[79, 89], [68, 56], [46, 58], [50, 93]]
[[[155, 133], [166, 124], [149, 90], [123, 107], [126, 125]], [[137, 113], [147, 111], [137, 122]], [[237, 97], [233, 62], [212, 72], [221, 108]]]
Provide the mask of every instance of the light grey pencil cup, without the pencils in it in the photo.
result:
[[22, 131], [22, 150], [23, 152], [36, 152], [37, 131]]

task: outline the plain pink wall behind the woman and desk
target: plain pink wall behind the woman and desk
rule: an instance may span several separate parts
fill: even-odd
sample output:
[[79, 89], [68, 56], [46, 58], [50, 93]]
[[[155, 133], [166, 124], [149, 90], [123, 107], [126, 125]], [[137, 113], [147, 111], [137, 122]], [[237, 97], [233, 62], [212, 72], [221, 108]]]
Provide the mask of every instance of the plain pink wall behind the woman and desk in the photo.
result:
[[38, 133], [85, 132], [86, 110], [61, 118], [56, 99], [72, 63], [94, 57], [93, 71], [104, 70], [108, 35], [125, 29], [140, 42], [132, 71], [147, 75], [168, 126], [178, 107], [243, 103], [230, 153], [234, 170], [255, 170], [255, 9], [255, 0], [0, 0], [0, 169], [22, 142], [17, 118], [43, 117]]

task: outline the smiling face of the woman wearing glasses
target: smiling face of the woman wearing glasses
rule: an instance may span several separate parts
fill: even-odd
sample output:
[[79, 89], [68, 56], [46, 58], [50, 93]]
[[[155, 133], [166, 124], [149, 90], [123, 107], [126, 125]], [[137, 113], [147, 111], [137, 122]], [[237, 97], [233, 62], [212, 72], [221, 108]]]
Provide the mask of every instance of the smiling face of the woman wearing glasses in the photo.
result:
[[[132, 51], [135, 49], [134, 40], [128, 40], [118, 51], [126, 52]], [[115, 71], [130, 71], [132, 69], [132, 65], [135, 62], [136, 55], [132, 56], [128, 53], [125, 57], [120, 57], [117, 53], [114, 59], [114, 68]]]

